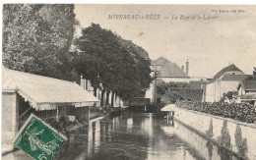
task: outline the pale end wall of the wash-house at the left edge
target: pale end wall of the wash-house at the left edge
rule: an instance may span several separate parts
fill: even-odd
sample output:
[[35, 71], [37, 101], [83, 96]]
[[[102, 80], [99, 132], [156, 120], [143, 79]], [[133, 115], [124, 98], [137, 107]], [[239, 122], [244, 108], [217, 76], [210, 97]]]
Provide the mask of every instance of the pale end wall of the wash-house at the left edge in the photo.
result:
[[18, 133], [18, 115], [16, 92], [2, 92], [2, 143], [10, 144]]

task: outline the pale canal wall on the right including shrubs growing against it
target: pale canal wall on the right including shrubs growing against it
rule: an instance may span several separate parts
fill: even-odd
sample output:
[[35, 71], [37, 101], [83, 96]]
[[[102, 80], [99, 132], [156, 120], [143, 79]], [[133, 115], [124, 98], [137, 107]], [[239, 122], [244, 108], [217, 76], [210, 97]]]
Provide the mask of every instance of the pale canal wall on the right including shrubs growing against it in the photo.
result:
[[256, 138], [252, 136], [252, 133], [256, 133], [255, 124], [242, 123], [178, 107], [175, 107], [174, 118], [218, 145], [227, 141], [227, 144], [222, 147], [237, 156], [256, 159]]

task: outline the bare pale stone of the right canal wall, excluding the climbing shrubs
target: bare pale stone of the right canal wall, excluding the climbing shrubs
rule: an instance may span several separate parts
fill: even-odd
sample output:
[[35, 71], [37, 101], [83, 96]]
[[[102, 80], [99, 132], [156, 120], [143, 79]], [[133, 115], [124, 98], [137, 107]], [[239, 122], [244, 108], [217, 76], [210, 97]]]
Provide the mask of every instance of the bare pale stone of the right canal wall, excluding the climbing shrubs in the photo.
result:
[[175, 107], [174, 118], [190, 126], [191, 128], [197, 130], [200, 133], [206, 133], [209, 130], [210, 122], [212, 119], [214, 139], [216, 140], [219, 136], [221, 136], [224, 120], [227, 120], [227, 130], [231, 138], [231, 149], [234, 152], [237, 152], [234, 134], [235, 134], [237, 125], [239, 125], [241, 128], [242, 137], [247, 138], [247, 146], [248, 146], [247, 156], [249, 159], [256, 159], [256, 152], [255, 152], [256, 125], [255, 124], [240, 123], [231, 119], [211, 116], [211, 115], [207, 115], [207, 114], [203, 114], [203, 113], [199, 113], [191, 110], [185, 110], [177, 107]]

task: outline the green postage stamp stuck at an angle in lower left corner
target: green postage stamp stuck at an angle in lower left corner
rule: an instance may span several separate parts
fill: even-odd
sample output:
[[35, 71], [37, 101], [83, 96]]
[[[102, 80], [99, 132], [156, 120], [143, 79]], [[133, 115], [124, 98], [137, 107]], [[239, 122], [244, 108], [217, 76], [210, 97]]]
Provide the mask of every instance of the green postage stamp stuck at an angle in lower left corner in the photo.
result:
[[33, 159], [51, 160], [66, 141], [65, 135], [31, 115], [16, 135], [14, 145], [24, 150]]

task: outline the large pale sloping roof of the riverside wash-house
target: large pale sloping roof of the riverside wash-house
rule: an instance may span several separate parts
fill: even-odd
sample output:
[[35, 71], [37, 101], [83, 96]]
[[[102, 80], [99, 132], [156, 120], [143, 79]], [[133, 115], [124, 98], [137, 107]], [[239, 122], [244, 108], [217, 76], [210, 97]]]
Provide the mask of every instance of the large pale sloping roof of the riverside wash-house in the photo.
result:
[[57, 80], [3, 68], [2, 90], [16, 90], [36, 110], [56, 109], [64, 104], [76, 107], [99, 102], [89, 91], [75, 82]]

